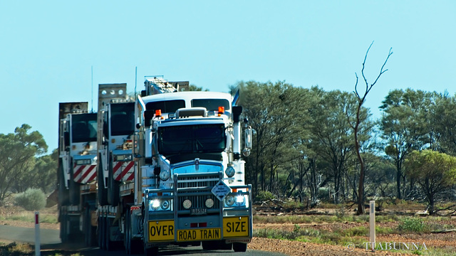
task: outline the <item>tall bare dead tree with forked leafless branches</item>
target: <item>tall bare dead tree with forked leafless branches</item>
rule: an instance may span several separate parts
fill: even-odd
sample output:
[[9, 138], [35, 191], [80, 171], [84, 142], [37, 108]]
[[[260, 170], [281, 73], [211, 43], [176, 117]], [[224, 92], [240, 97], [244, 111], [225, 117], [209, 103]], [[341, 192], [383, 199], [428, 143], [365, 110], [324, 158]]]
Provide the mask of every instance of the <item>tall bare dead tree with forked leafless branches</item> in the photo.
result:
[[356, 83], [355, 83], [355, 91], [353, 92], [356, 95], [356, 98], [358, 100], [358, 107], [356, 109], [356, 121], [353, 124], [350, 120], [350, 116], [348, 114], [347, 110], [347, 118], [348, 118], [348, 123], [350, 124], [351, 128], [353, 129], [353, 133], [355, 134], [355, 149], [356, 149], [356, 156], [358, 157], [358, 161], [360, 164], [360, 173], [359, 173], [359, 182], [358, 182], [358, 209], [356, 211], [356, 214], [360, 215], [365, 213], [365, 208], [364, 208], [364, 172], [366, 167], [364, 166], [364, 161], [363, 157], [361, 157], [361, 149], [360, 149], [360, 144], [358, 141], [358, 131], [359, 131], [359, 125], [361, 123], [360, 119], [360, 113], [361, 113], [361, 107], [363, 106], [363, 103], [366, 101], [366, 97], [368, 93], [371, 91], [372, 87], [377, 83], [378, 79], [380, 78], [383, 73], [388, 71], [388, 69], [383, 69], [385, 68], [386, 63], [388, 62], [388, 59], [390, 58], [390, 55], [393, 54], [391, 50], [393, 48], [390, 48], [390, 51], [388, 52], [388, 56], [386, 57], [385, 62], [382, 65], [382, 68], [380, 68], [380, 73], [378, 73], [377, 78], [375, 78], [374, 82], [369, 85], [369, 82], [366, 78], [366, 75], [364, 74], [364, 68], [366, 67], [366, 60], [368, 58], [368, 53], [369, 50], [371, 50], [371, 47], [373, 45], [373, 41], [371, 43], [371, 46], [369, 46], [368, 50], [366, 51], [366, 55], [364, 56], [364, 61], [363, 61], [363, 68], [361, 69], [361, 75], [363, 76], [364, 83], [366, 84], [366, 90], [364, 91], [363, 97], [358, 93], [358, 74], [355, 73], [356, 75]]

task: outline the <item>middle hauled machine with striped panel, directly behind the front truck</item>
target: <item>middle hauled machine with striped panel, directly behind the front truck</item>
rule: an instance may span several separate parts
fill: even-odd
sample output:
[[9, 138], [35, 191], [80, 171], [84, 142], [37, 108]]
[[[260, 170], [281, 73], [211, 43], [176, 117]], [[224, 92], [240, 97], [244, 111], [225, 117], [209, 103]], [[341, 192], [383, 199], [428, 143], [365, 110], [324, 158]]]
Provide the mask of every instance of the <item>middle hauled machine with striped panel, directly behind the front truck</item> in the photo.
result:
[[98, 245], [123, 242], [123, 205], [133, 203], [134, 99], [127, 84], [98, 85]]

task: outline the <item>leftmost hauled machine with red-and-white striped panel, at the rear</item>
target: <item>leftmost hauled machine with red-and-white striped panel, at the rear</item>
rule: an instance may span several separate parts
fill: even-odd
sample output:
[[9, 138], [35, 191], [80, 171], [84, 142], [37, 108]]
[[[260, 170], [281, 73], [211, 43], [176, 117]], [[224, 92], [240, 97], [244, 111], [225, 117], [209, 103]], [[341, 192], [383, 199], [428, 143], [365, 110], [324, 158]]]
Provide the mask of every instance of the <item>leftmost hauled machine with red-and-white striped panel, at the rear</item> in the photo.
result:
[[62, 242], [84, 234], [95, 241], [97, 114], [88, 102], [59, 104], [58, 209]]

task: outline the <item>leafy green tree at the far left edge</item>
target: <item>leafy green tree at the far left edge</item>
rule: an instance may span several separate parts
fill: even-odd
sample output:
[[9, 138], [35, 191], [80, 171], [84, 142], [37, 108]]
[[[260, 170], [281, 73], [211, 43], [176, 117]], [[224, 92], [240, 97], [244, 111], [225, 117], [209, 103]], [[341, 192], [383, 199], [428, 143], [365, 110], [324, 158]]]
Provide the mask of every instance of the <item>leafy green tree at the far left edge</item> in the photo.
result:
[[31, 126], [22, 124], [14, 134], [0, 134], [0, 205], [11, 195], [11, 185], [33, 168], [35, 156], [48, 149], [39, 132], [28, 132]]

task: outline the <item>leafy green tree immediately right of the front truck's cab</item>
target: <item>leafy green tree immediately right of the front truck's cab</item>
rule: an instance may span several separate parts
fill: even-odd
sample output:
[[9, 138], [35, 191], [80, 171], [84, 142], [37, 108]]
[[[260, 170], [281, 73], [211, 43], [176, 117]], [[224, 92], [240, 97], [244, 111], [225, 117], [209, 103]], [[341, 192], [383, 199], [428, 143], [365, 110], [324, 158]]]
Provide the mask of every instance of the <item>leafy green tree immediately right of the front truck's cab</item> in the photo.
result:
[[244, 107], [244, 117], [254, 129], [254, 148], [246, 159], [254, 195], [257, 189], [279, 194], [279, 173], [284, 170], [289, 176], [285, 166], [302, 157], [296, 142], [302, 137], [302, 124], [309, 118], [307, 90], [281, 81], [238, 82], [236, 87], [242, 90], [239, 105]]

